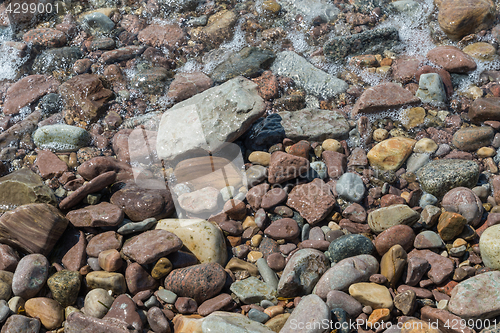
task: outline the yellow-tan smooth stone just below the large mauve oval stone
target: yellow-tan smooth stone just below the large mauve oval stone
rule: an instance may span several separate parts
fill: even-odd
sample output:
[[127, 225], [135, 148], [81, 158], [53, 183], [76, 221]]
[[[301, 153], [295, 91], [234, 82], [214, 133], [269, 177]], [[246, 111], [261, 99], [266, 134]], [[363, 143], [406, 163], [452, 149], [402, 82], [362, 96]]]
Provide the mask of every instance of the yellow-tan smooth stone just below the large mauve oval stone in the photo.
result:
[[393, 307], [389, 289], [377, 283], [355, 283], [349, 287], [349, 294], [362, 305], [371, 306], [372, 309], [392, 309]]

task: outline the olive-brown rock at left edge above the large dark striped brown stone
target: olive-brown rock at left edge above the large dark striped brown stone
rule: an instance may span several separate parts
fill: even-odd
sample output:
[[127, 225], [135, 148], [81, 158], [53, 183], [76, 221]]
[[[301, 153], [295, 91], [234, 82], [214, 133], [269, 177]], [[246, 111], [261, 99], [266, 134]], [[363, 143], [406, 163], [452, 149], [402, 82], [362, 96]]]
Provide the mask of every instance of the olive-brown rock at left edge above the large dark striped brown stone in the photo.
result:
[[56, 197], [42, 178], [29, 169], [20, 169], [0, 178], [0, 212], [30, 203], [56, 204]]

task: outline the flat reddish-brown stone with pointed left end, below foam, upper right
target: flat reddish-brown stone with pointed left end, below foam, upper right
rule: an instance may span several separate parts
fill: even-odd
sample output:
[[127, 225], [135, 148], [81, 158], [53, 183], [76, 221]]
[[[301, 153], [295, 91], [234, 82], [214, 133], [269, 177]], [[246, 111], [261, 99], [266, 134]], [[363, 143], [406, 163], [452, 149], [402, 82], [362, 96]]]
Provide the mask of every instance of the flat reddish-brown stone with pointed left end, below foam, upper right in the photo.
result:
[[351, 115], [377, 113], [403, 105], [417, 105], [420, 99], [395, 83], [382, 83], [366, 89], [354, 105]]

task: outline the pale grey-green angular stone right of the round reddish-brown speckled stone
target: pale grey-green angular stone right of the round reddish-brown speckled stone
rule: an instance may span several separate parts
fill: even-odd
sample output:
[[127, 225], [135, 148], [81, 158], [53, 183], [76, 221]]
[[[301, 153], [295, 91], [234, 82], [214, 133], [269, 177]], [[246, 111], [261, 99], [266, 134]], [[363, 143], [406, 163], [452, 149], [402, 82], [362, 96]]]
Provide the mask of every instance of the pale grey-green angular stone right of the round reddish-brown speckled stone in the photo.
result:
[[253, 276], [233, 282], [230, 289], [245, 304], [276, 302], [276, 290]]

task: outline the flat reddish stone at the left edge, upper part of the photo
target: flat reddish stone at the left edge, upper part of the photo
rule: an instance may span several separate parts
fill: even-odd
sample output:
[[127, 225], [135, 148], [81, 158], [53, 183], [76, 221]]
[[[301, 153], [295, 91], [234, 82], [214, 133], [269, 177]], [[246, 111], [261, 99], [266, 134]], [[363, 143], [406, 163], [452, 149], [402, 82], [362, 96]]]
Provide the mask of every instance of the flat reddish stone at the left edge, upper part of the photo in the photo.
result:
[[6, 115], [18, 114], [21, 108], [36, 102], [43, 95], [56, 92], [58, 86], [59, 82], [52, 76], [26, 76], [7, 90], [3, 112]]

